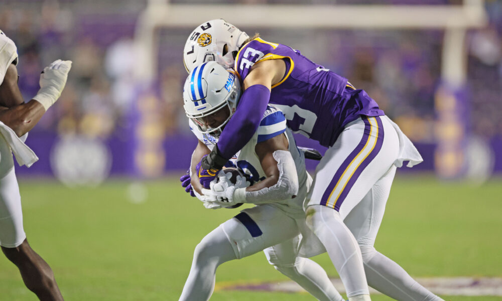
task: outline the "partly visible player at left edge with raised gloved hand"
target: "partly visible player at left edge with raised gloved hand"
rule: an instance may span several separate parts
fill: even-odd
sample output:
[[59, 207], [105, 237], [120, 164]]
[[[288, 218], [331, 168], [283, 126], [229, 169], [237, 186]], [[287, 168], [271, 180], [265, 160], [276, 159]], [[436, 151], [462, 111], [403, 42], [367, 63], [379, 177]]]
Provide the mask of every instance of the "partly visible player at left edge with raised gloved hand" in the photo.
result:
[[57, 60], [46, 67], [38, 94], [27, 103], [18, 88], [17, 63], [16, 45], [0, 31], [0, 246], [40, 300], [63, 300], [52, 269], [26, 240], [12, 153], [20, 165], [29, 167], [38, 160], [19, 137], [27, 134], [59, 98], [71, 61]]

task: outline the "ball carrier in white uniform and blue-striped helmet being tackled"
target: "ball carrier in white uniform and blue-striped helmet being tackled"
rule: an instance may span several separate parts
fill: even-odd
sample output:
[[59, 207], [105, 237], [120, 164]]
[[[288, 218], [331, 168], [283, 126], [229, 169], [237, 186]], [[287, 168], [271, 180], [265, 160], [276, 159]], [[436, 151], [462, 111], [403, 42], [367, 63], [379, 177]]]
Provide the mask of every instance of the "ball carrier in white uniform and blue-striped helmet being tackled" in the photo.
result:
[[[319, 300], [343, 300], [326, 272], [314, 261], [302, 258], [317, 238], [305, 224], [303, 201], [311, 179], [303, 153], [296, 147], [282, 112], [270, 106], [253, 138], [236, 154], [233, 163], [254, 185], [246, 187], [238, 177], [232, 185], [224, 174], [211, 189], [198, 182], [200, 158], [209, 154], [219, 132], [230, 119], [240, 97], [237, 77], [216, 62], [204, 63], [185, 82], [184, 108], [198, 138], [191, 163], [193, 188], [206, 208], [239, 203], [257, 206], [242, 210], [207, 234], [194, 252], [190, 274], [180, 300], [209, 299], [217, 267], [264, 250], [269, 262]], [[201, 195], [202, 194], [202, 195]], [[303, 241], [302, 236], [303, 234]], [[321, 246], [317, 241], [317, 246]]]

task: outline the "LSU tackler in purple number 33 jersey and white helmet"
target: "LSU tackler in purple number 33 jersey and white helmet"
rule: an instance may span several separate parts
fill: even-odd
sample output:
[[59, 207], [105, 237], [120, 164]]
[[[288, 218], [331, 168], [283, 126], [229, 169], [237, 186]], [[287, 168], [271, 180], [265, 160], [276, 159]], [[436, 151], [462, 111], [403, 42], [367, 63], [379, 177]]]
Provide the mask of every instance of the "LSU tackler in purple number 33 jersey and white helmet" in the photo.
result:
[[[203, 41], [194, 39], [202, 36]], [[346, 78], [259, 36], [240, 44], [242, 36], [223, 20], [212, 20], [197, 27], [185, 45], [188, 71], [206, 60], [227, 63], [233, 57], [244, 87], [237, 111], [200, 162], [201, 174], [220, 170], [253, 135], [267, 105], [274, 104], [294, 132], [328, 147], [304, 206], [349, 300], [369, 299], [366, 279], [397, 300], [440, 300], [374, 248], [396, 168], [403, 161], [409, 167], [422, 162], [415, 146]]]

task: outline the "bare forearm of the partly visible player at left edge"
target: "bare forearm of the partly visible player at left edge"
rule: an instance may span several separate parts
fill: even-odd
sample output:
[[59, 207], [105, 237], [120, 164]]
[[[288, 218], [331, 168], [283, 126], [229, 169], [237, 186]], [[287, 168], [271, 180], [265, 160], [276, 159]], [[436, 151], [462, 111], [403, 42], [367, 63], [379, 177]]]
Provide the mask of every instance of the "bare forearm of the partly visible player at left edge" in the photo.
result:
[[44, 113], [45, 109], [42, 104], [32, 99], [28, 103], [0, 109], [0, 121], [21, 137], [37, 124]]

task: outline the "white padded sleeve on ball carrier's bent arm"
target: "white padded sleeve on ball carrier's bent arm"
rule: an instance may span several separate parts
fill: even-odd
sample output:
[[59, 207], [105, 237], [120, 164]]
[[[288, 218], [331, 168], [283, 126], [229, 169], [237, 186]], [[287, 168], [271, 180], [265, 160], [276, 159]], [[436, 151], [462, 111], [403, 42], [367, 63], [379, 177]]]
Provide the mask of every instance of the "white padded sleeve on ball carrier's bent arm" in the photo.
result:
[[276, 150], [273, 156], [279, 168], [277, 183], [258, 191], [237, 188], [233, 193], [234, 200], [242, 203], [267, 204], [296, 197], [299, 188], [298, 174], [291, 153], [287, 150]]

